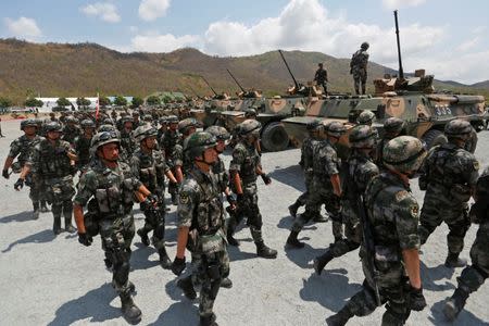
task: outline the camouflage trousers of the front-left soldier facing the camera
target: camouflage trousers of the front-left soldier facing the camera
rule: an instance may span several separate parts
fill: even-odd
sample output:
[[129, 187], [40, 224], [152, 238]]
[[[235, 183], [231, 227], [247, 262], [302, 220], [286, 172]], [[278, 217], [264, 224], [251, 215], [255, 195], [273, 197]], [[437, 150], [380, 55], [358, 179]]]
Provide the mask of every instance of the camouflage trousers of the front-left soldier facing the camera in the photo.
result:
[[117, 293], [129, 289], [130, 243], [135, 235], [134, 217], [100, 221], [100, 237], [105, 256], [112, 262], [112, 286]]

